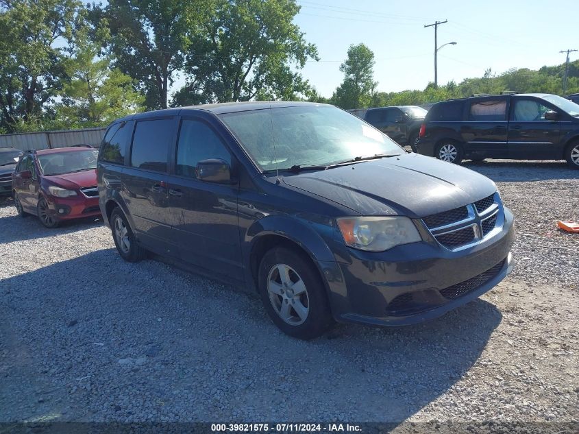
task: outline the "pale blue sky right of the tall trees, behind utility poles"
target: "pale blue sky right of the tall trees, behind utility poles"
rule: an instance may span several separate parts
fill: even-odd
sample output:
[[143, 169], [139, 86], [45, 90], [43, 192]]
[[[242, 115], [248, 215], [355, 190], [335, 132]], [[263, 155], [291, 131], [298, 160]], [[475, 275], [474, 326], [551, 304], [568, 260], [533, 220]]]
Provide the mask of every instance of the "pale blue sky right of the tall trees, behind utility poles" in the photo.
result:
[[[560, 64], [579, 49], [579, 0], [390, 1], [297, 0], [294, 22], [315, 43], [320, 62], [301, 73], [325, 97], [343, 80], [341, 62], [351, 44], [375, 56], [378, 91], [423, 89], [434, 81], [434, 21], [439, 25], [439, 84], [480, 77], [487, 68], [539, 69]], [[570, 60], [579, 58], [571, 53]]]

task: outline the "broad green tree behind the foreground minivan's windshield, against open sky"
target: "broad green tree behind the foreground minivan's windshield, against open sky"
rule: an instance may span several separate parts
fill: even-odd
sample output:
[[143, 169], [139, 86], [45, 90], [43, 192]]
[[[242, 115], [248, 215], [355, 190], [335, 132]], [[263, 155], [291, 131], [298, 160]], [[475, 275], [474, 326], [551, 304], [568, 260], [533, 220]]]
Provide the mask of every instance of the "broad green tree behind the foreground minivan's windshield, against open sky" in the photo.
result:
[[292, 22], [299, 9], [295, 0], [218, 0], [186, 54], [188, 83], [173, 105], [307, 95], [294, 69], [318, 57]]

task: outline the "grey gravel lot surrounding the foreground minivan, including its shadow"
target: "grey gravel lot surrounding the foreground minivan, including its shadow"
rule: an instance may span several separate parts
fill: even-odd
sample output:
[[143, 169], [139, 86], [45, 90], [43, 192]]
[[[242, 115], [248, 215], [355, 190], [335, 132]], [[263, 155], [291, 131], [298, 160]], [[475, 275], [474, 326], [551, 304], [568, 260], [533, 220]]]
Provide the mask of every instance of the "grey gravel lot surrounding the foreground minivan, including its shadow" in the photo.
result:
[[579, 234], [555, 221], [579, 221], [579, 171], [467, 166], [515, 213], [515, 272], [427, 324], [310, 342], [254, 294], [123, 262], [101, 221], [47, 230], [4, 201], [0, 422], [577, 422]]

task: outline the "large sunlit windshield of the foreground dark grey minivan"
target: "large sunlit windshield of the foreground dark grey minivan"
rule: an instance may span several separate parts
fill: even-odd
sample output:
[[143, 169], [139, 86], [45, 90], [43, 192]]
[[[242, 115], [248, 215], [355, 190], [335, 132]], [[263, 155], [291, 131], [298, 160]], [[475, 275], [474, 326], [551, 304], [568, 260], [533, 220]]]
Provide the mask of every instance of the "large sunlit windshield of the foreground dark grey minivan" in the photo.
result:
[[379, 130], [333, 106], [273, 107], [219, 117], [262, 171], [404, 152]]

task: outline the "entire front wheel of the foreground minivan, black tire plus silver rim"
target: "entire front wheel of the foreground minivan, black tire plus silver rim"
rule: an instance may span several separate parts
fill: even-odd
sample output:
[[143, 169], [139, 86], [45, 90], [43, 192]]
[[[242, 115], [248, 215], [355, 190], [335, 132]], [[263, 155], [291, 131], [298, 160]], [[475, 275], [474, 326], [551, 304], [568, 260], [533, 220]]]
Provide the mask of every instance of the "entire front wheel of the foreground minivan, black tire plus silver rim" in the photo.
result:
[[260, 263], [260, 296], [273, 323], [291, 337], [313, 339], [333, 324], [319, 272], [309, 258], [273, 248]]

